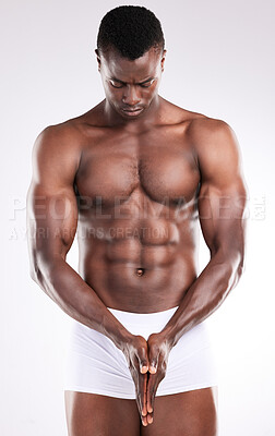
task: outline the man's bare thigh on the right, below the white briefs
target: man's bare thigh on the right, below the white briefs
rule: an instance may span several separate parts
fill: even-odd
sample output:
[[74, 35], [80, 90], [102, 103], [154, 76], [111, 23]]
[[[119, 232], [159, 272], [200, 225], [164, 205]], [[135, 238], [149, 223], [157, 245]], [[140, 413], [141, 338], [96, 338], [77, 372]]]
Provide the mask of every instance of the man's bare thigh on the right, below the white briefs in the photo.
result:
[[141, 436], [216, 436], [217, 387], [155, 398], [154, 421]]

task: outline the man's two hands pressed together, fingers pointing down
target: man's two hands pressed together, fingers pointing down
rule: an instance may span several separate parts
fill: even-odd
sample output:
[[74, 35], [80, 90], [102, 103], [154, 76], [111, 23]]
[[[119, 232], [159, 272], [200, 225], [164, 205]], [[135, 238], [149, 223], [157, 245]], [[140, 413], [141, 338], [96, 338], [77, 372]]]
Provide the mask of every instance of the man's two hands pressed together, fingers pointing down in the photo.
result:
[[142, 336], [133, 335], [123, 347], [135, 385], [141, 421], [145, 426], [153, 422], [155, 395], [165, 377], [170, 350], [171, 344], [162, 334], [152, 334], [147, 341]]

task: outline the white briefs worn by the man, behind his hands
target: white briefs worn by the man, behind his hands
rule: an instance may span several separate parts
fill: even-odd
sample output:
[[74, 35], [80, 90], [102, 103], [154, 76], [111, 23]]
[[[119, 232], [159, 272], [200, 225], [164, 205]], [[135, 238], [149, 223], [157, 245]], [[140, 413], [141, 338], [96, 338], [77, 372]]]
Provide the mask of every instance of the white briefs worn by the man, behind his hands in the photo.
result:
[[[140, 314], [107, 307], [132, 334], [146, 340], [160, 331], [178, 306]], [[217, 386], [217, 371], [207, 319], [181, 336], [171, 349], [156, 397]], [[64, 367], [64, 390], [135, 399], [135, 386], [124, 354], [105, 335], [72, 319]]]

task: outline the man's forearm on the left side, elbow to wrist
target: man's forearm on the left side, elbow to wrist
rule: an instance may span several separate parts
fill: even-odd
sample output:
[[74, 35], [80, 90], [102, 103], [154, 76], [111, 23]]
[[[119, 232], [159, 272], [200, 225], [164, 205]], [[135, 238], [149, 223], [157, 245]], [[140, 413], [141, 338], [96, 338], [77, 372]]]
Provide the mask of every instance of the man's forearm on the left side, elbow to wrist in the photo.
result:
[[96, 292], [62, 257], [40, 262], [33, 278], [69, 316], [107, 336], [119, 349], [131, 337]]

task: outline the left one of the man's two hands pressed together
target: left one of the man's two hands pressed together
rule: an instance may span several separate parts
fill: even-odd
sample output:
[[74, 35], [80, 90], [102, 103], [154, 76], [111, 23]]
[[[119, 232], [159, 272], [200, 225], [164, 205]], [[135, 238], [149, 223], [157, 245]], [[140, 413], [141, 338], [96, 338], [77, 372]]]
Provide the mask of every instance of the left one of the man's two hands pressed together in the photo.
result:
[[142, 423], [143, 425], [147, 425], [151, 422], [146, 408], [148, 378], [148, 347], [146, 339], [139, 335], [132, 335], [123, 344], [122, 351], [135, 385], [136, 403]]

